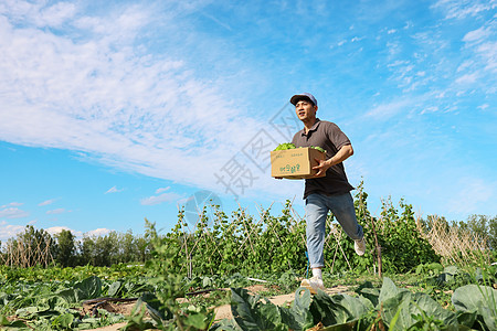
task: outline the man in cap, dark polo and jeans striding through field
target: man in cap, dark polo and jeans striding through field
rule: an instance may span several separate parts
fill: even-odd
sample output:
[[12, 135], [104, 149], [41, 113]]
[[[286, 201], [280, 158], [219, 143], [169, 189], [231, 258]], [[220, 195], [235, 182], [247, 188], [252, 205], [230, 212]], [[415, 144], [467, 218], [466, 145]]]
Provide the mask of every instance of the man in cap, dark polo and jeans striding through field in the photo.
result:
[[353, 200], [343, 168], [343, 161], [353, 154], [349, 138], [330, 121], [316, 117], [318, 109], [316, 98], [309, 93], [294, 95], [290, 103], [295, 106], [298, 119], [304, 122], [304, 129], [295, 134], [292, 142], [295, 147], [317, 146], [326, 150], [326, 161], [318, 160], [316, 177], [307, 179], [304, 190], [306, 201], [306, 236], [313, 277], [304, 279], [302, 286], [316, 293], [317, 289], [325, 289], [321, 269], [325, 266], [326, 218], [328, 211], [335, 215], [347, 235], [355, 241], [358, 255], [366, 252], [362, 227], [356, 218]]

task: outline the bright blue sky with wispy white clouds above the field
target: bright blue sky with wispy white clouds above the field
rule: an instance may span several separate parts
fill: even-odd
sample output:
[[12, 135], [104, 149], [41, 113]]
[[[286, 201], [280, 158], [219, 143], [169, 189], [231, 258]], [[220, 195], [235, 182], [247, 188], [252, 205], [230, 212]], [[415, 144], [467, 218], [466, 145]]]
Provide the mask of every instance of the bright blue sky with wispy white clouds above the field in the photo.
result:
[[495, 0], [1, 0], [0, 58], [1, 241], [168, 231], [205, 196], [303, 216], [267, 168], [300, 92], [374, 215], [497, 214]]

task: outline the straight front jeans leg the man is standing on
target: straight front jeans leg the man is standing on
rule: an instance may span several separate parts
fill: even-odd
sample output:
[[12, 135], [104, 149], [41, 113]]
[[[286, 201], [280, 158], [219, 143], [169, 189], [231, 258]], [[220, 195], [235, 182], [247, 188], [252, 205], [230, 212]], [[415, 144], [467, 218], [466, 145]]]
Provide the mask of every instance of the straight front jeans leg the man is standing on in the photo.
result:
[[310, 194], [306, 199], [307, 253], [311, 268], [322, 268], [325, 266], [324, 248], [326, 216], [328, 215], [326, 197], [320, 194]]

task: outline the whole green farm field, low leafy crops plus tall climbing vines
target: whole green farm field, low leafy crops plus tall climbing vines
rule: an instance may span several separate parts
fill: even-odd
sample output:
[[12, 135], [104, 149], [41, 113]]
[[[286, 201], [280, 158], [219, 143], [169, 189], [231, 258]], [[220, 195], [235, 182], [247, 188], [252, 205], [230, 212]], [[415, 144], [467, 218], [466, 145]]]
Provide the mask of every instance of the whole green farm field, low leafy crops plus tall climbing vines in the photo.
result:
[[[140, 263], [62, 267], [63, 259], [44, 266], [35, 259], [33, 266], [0, 266], [0, 325], [2, 330], [497, 330], [497, 266], [486, 242], [440, 217], [416, 220], [402, 201], [399, 206], [387, 202], [381, 216], [373, 217], [366, 196], [360, 191], [355, 201], [367, 239], [364, 256], [353, 253], [353, 242], [329, 216], [326, 291], [310, 295], [299, 287], [309, 273], [305, 222], [289, 202], [277, 215], [261, 211], [253, 216], [243, 210], [226, 215], [214, 207], [213, 218], [203, 213], [193, 229], [180, 211], [177, 226], [163, 235], [146, 221], [141, 242], [147, 243], [147, 258]], [[49, 236], [31, 233], [29, 228], [8, 243], [4, 261], [12, 263], [13, 256], [29, 261], [13, 249], [29, 243], [51, 252], [43, 242]], [[109, 255], [116, 249], [102, 252]]]

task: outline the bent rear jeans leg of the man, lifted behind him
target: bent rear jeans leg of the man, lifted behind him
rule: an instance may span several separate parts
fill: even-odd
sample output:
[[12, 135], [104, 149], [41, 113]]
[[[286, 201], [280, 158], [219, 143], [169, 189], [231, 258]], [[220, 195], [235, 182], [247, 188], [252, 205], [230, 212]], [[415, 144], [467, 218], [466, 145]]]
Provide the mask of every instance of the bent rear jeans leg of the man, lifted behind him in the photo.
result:
[[361, 239], [363, 236], [362, 226], [359, 225], [353, 207], [353, 199], [350, 193], [341, 195], [326, 196], [328, 207], [334, 213], [335, 218], [340, 223], [345, 233], [352, 239]]

